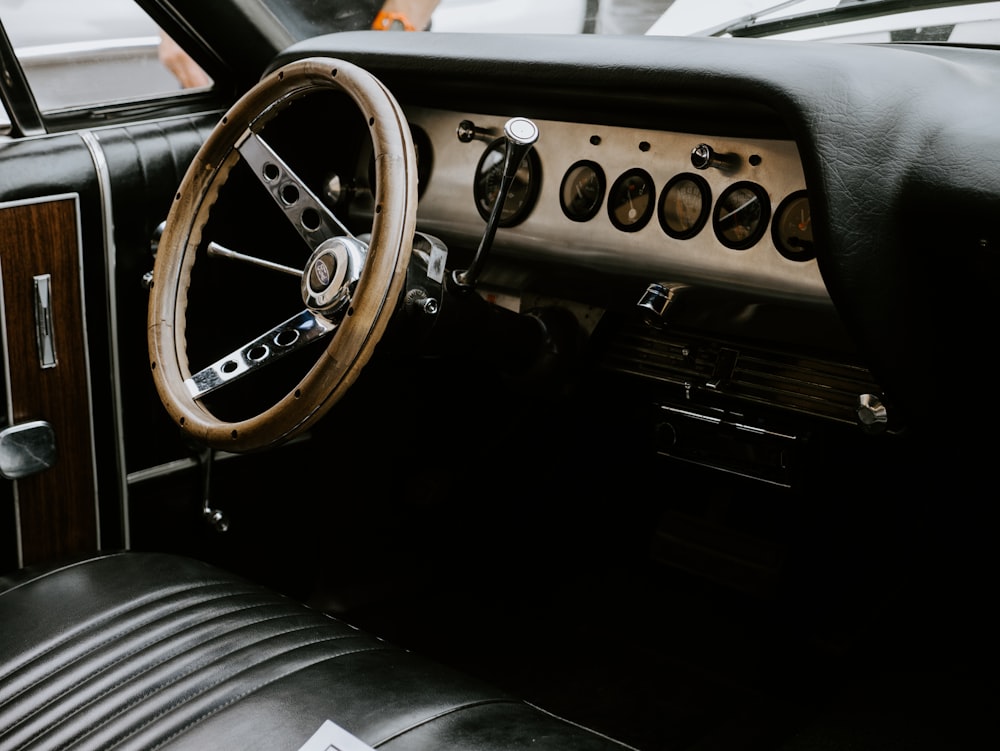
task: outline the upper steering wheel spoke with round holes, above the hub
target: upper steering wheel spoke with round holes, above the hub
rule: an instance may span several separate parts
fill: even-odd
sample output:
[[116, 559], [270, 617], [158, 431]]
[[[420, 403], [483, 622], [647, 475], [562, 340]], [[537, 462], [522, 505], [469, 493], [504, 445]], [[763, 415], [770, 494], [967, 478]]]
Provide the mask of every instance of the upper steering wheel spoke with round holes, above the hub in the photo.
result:
[[236, 149], [310, 251], [331, 237], [354, 236], [259, 135], [248, 129]]

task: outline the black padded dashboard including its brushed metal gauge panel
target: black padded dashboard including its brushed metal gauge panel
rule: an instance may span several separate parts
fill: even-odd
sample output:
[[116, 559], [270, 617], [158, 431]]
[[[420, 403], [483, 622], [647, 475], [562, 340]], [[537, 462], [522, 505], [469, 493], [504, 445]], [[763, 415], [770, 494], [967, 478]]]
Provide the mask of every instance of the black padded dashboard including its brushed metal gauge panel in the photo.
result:
[[[995, 264], [1000, 195], [995, 55], [759, 39], [532, 41], [334, 34], [293, 45], [272, 69], [329, 56], [378, 76], [422, 145], [417, 227], [456, 256], [482, 236], [477, 204], [495, 183], [495, 139], [508, 119], [531, 118], [536, 166], [485, 272], [513, 270], [496, 287], [520, 295], [521, 310], [529, 292], [617, 311], [634, 308], [646, 285], [688, 285], [690, 302], [666, 328], [860, 366], [900, 424], [936, 422], [929, 395], [951, 374], [928, 342], [972, 346], [977, 322], [995, 315], [982, 273]], [[579, 285], [563, 284], [576, 274]], [[963, 293], [928, 304], [945, 278], [961, 279]], [[679, 341], [676, 351], [691, 349]]]

